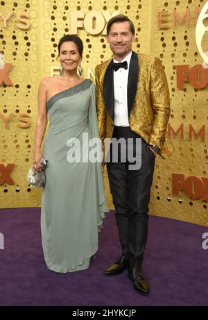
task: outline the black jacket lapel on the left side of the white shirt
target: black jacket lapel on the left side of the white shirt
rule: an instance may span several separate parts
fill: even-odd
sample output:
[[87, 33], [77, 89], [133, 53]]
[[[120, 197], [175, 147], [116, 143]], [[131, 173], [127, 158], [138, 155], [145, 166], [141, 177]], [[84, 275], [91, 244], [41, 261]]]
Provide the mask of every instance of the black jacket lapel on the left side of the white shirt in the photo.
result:
[[112, 120], [114, 120], [114, 71], [113, 71], [113, 60], [107, 66], [105, 76], [103, 80], [103, 97], [107, 112], [109, 113]]

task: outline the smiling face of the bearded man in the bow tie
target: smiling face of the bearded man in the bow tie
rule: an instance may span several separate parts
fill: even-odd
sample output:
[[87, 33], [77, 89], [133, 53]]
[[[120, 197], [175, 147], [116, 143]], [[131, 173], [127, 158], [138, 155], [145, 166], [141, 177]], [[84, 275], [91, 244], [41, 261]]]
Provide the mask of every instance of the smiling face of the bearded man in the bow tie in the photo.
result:
[[119, 60], [125, 58], [132, 50], [132, 42], [134, 41], [135, 36], [130, 31], [128, 21], [112, 24], [110, 33], [107, 35], [107, 42], [114, 53], [114, 58], [119, 58]]

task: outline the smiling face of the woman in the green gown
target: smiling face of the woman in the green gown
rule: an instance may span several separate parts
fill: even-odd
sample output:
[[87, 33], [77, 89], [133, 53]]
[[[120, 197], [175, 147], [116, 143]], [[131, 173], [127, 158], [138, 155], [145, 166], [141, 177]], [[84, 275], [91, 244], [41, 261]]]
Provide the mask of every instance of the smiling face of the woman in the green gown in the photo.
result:
[[82, 60], [78, 47], [73, 41], [66, 41], [62, 43], [59, 58], [62, 67], [66, 71], [73, 71], [77, 69]]

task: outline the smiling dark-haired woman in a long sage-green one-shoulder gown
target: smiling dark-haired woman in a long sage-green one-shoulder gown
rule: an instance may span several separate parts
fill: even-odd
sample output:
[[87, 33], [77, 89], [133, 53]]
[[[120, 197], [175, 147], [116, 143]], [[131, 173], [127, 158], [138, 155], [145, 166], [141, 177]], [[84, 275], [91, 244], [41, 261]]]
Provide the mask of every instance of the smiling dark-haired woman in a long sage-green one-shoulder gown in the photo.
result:
[[95, 87], [77, 74], [83, 42], [65, 35], [58, 44], [61, 75], [40, 83], [35, 131], [34, 167], [41, 170], [41, 145], [46, 165], [42, 192], [41, 231], [44, 259], [56, 272], [87, 269], [98, 249], [98, 227], [107, 212], [101, 163], [72, 162], [70, 141], [82, 144], [83, 134], [98, 137]]

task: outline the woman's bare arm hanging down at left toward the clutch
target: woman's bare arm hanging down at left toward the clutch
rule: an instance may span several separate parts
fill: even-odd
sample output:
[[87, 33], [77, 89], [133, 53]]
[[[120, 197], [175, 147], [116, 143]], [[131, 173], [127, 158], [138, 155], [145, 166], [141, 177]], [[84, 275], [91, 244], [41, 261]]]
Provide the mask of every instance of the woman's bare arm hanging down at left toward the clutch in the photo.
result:
[[35, 169], [42, 170], [44, 169], [40, 163], [40, 159], [42, 158], [41, 154], [41, 146], [42, 140], [44, 138], [44, 134], [47, 126], [47, 111], [46, 111], [46, 102], [47, 102], [47, 83], [48, 81], [44, 78], [40, 82], [39, 90], [38, 90], [38, 116], [37, 116], [37, 124], [35, 128], [35, 144], [34, 144], [34, 158], [33, 165]]

